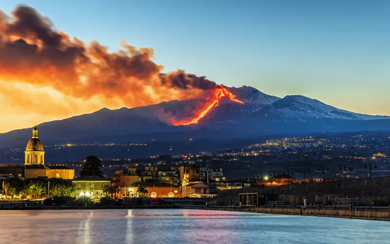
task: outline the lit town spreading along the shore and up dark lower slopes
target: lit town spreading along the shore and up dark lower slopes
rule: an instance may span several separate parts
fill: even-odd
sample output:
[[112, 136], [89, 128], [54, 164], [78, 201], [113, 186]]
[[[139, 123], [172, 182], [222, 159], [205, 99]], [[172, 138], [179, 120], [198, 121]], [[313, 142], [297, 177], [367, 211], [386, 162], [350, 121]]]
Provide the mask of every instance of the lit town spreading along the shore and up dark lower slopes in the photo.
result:
[[[78, 145], [54, 146], [70, 148]], [[108, 143], [98, 146], [115, 148], [124, 145]], [[147, 143], [126, 146], [147, 146]], [[272, 189], [273, 195], [283, 191], [284, 196], [273, 196], [274, 200], [283, 199], [283, 204], [301, 203], [304, 199], [325, 204], [333, 198], [325, 195], [339, 194], [351, 199], [348, 185], [355, 184], [360, 178], [363, 181], [370, 179], [371, 187], [370, 192], [363, 194], [365, 200], [361, 202], [385, 204], [387, 197], [373, 196], [372, 179], [378, 182], [378, 179], [389, 178], [386, 177], [390, 172], [389, 146], [390, 138], [384, 134], [330, 138], [306, 136], [268, 139], [239, 149], [186, 155], [111, 160], [93, 155], [78, 162], [44, 163], [46, 147], [39, 139], [38, 128], [34, 127], [24, 150], [24, 164], [0, 164], [0, 199], [21, 201], [74, 196], [96, 203], [101, 199], [211, 198], [215, 203], [229, 204], [229, 201], [237, 202], [237, 195], [229, 195], [232, 192], [246, 194], [257, 187], [262, 192]], [[8, 150], [5, 155], [21, 158], [21, 152], [21, 149]], [[342, 186], [336, 187], [337, 184]], [[302, 187], [302, 198], [286, 199], [286, 194], [296, 194], [294, 192], [299, 192], [297, 189]], [[310, 190], [312, 187], [317, 190]], [[358, 191], [355, 186], [350, 188]], [[254, 204], [254, 200], [245, 204]]]

